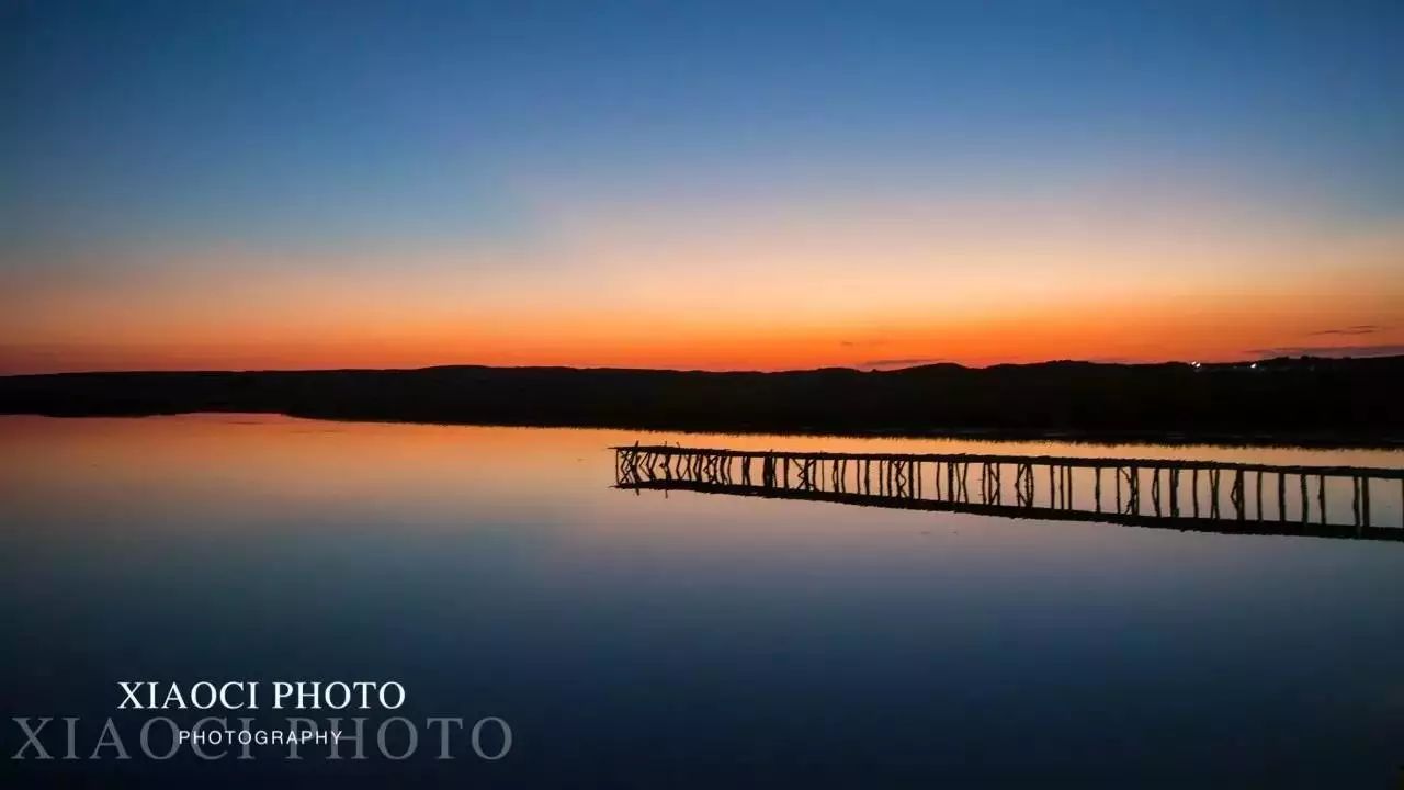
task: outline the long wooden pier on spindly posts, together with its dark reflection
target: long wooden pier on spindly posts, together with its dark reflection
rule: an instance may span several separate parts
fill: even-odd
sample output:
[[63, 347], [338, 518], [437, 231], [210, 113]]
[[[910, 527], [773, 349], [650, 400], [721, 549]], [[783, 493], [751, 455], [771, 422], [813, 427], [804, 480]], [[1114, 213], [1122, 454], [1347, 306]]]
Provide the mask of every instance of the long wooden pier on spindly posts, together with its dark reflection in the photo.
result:
[[[615, 485], [1216, 533], [1404, 540], [1404, 470], [615, 447]], [[1394, 510], [1389, 524], [1370, 502]], [[1397, 506], [1397, 509], [1396, 509]], [[1382, 516], [1384, 513], [1380, 513]]]

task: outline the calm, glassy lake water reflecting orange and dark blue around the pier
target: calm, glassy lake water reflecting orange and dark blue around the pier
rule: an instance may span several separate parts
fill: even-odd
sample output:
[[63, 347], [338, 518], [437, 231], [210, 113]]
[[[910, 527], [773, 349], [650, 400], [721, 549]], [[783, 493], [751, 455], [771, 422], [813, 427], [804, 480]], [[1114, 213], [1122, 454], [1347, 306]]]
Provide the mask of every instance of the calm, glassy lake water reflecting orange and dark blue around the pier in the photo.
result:
[[[6, 770], [37, 787], [1398, 780], [1404, 543], [616, 489], [609, 447], [639, 440], [1404, 467], [1383, 450], [0, 417], [6, 718], [53, 717], [62, 758], [60, 717], [79, 717], [86, 758], [111, 717], [133, 752]], [[1394, 489], [1373, 520], [1400, 519]], [[161, 762], [136, 753], [152, 714], [117, 710], [119, 680], [396, 680], [404, 706], [361, 715], [500, 717], [512, 745], [435, 760], [421, 730], [425, 756], [404, 762]], [[4, 724], [13, 755], [25, 739]]]

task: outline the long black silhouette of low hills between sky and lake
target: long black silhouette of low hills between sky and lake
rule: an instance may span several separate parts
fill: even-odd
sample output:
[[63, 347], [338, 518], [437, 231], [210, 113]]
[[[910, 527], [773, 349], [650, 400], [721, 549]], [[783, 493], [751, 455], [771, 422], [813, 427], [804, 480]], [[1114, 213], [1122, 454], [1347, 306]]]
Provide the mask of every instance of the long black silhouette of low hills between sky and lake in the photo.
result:
[[713, 432], [1404, 441], [1404, 356], [893, 371], [423, 370], [0, 377], [0, 413], [305, 417]]

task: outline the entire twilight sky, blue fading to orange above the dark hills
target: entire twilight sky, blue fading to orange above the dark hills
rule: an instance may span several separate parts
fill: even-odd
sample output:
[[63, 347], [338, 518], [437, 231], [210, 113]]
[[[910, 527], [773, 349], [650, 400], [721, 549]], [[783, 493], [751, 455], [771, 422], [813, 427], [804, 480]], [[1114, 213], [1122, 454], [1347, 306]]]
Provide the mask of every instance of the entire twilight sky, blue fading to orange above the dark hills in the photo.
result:
[[0, 373], [1404, 353], [1404, 4], [0, 0]]

